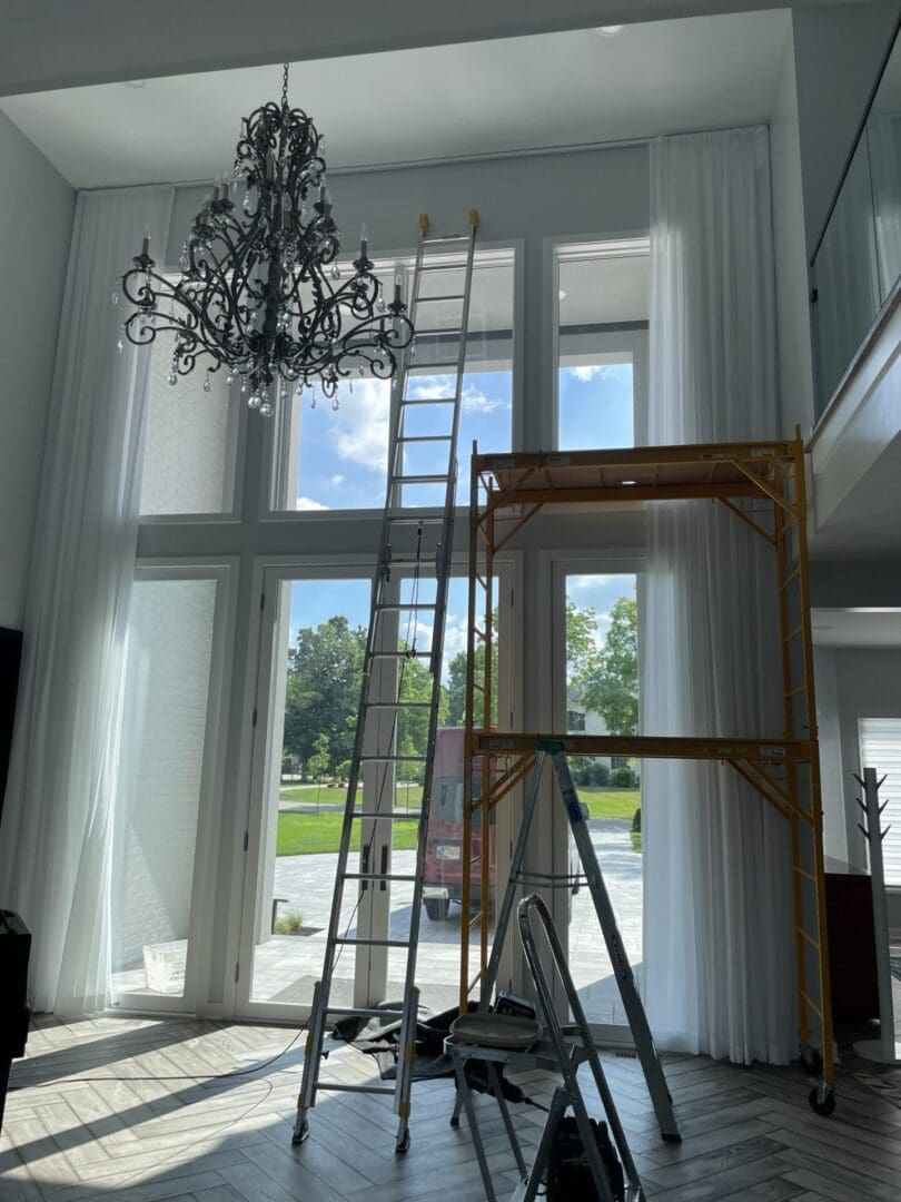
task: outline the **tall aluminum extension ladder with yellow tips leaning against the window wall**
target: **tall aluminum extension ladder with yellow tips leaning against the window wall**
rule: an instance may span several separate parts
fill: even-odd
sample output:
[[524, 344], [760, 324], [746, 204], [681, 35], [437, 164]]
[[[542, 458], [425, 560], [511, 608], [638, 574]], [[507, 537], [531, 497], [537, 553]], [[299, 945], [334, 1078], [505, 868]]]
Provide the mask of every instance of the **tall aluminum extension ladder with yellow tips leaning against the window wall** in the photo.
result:
[[[308, 1024], [300, 1094], [297, 1102], [293, 1143], [303, 1143], [310, 1131], [309, 1111], [321, 1090], [364, 1094], [393, 1094], [398, 1114], [395, 1150], [410, 1147], [410, 1099], [412, 1091], [413, 1045], [418, 1012], [416, 988], [416, 948], [423, 899], [423, 874], [428, 838], [432, 761], [441, 700], [441, 660], [444, 641], [444, 614], [453, 546], [454, 504], [457, 499], [457, 442], [460, 428], [460, 399], [466, 364], [466, 327], [469, 325], [472, 266], [478, 230], [478, 210], [470, 209], [469, 232], [432, 236], [429, 219], [419, 218], [419, 244], [410, 299], [410, 320], [418, 335], [405, 351], [394, 377], [388, 445], [388, 487], [380, 535], [378, 561], [372, 582], [369, 635], [363, 661], [363, 685], [357, 716], [353, 756], [347, 786], [347, 802], [338, 853], [335, 892], [332, 899], [326, 939], [322, 978], [316, 982]], [[448, 254], [449, 252], [449, 254]], [[463, 288], [454, 281], [463, 273]], [[443, 305], [443, 310], [442, 307]], [[444, 320], [444, 310], [454, 316]], [[436, 315], [432, 317], [432, 315]], [[442, 395], [417, 393], [411, 380], [417, 355], [417, 340], [423, 334], [437, 338], [453, 353], [440, 364], [426, 367], [447, 376]], [[426, 462], [423, 462], [423, 454]], [[423, 489], [428, 488], [428, 493]], [[441, 498], [440, 505], [426, 505], [423, 495]], [[423, 594], [420, 597], [420, 593]], [[428, 648], [418, 645], [419, 623], [431, 626]], [[400, 630], [398, 629], [400, 627]], [[400, 633], [400, 637], [399, 637]], [[431, 674], [428, 701], [402, 700], [405, 667], [419, 661]], [[428, 712], [428, 736], [422, 755], [399, 755], [398, 727], [405, 712]], [[418, 813], [395, 813], [394, 770], [399, 763], [423, 768], [423, 801]], [[364, 781], [365, 776], [365, 781]], [[358, 796], [362, 792], [362, 804]], [[390, 827], [394, 821], [418, 819], [416, 870], [412, 875], [388, 870]], [[348, 865], [351, 840], [360, 832], [358, 870]], [[353, 934], [353, 921], [365, 892], [380, 889], [390, 894], [392, 882], [412, 883], [413, 899], [410, 932], [405, 939], [389, 939], [390, 905], [384, 905], [384, 928], [380, 934]], [[347, 888], [357, 891], [351, 922], [342, 930], [341, 906]], [[394, 1006], [377, 1006], [371, 999], [364, 1005], [335, 1006], [330, 1002], [335, 966], [345, 948], [390, 948], [406, 952], [402, 999]], [[354, 1002], [358, 1000], [354, 993]], [[386, 1084], [348, 1084], [323, 1079], [323, 1042], [332, 1017], [360, 1019], [400, 1019], [400, 1054], [396, 1082]]]

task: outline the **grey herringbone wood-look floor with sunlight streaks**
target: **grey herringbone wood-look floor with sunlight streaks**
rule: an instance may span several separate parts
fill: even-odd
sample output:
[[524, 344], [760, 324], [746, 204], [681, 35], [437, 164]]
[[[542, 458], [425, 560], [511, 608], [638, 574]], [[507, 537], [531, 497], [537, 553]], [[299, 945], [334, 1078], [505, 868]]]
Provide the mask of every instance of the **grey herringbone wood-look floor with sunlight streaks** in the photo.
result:
[[[418, 1084], [412, 1147], [395, 1156], [390, 1099], [332, 1095], [312, 1136], [291, 1147], [303, 1040], [269, 1067], [220, 1081], [179, 1073], [251, 1067], [285, 1028], [101, 1018], [36, 1024], [17, 1061], [0, 1139], [2, 1202], [476, 1202], [484, 1197], [465, 1120], [448, 1126], [453, 1085]], [[372, 1072], [340, 1048], [329, 1071]], [[807, 1106], [798, 1070], [738, 1069], [669, 1057], [681, 1146], [657, 1135], [636, 1060], [604, 1055], [646, 1192], [666, 1202], [901, 1198], [901, 1109], [845, 1070], [830, 1119]], [[72, 1078], [90, 1077], [91, 1081]], [[153, 1077], [154, 1081], [138, 1079]], [[547, 1100], [551, 1078], [518, 1078]], [[515, 1184], [493, 1100], [478, 1101], [499, 1195]], [[533, 1146], [538, 1111], [517, 1124]], [[596, 1111], [597, 1113], [597, 1111]]]

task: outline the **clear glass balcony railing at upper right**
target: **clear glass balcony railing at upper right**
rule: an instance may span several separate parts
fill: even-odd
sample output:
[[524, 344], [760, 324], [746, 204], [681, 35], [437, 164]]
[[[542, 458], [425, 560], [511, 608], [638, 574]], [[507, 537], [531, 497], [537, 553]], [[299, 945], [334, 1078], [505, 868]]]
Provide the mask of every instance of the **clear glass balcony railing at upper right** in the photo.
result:
[[901, 40], [888, 56], [813, 256], [817, 417], [901, 275]]

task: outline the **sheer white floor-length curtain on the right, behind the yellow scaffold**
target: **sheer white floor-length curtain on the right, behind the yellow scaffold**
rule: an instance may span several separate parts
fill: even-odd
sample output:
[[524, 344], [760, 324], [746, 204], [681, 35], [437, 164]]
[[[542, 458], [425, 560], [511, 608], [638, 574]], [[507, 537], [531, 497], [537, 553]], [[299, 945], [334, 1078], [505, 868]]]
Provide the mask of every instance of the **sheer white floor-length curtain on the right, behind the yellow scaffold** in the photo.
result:
[[[651, 444], [780, 433], [768, 135], [651, 144]], [[774, 554], [711, 501], [652, 506], [642, 722], [782, 731]], [[765, 668], [765, 671], [764, 671]], [[787, 831], [727, 766], [644, 762], [644, 993], [664, 1047], [793, 1051]]]

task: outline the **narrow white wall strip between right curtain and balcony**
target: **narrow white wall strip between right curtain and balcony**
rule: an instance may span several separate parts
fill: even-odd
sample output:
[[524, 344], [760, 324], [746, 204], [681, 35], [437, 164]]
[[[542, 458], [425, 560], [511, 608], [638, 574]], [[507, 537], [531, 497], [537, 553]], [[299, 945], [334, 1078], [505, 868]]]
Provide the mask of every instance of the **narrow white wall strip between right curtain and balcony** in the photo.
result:
[[807, 256], [804, 228], [794, 36], [789, 28], [770, 114], [772, 239], [776, 256], [778, 382], [783, 429], [813, 424]]

